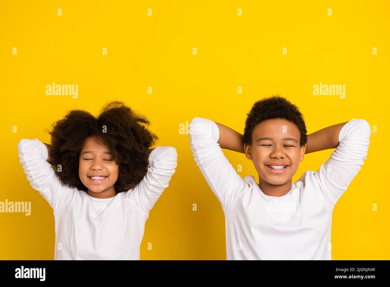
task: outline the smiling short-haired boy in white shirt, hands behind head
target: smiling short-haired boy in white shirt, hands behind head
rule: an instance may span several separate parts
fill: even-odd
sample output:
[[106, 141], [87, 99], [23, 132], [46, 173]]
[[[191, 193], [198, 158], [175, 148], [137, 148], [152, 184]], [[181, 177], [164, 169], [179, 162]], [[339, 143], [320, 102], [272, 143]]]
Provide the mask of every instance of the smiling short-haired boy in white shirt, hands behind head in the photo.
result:
[[[254, 104], [244, 134], [195, 117], [194, 159], [225, 214], [227, 260], [331, 260], [333, 207], [366, 159], [364, 119], [306, 135], [299, 108], [279, 96]], [[244, 179], [221, 148], [245, 153], [259, 174]], [[318, 171], [293, 175], [305, 153], [336, 148]]]

